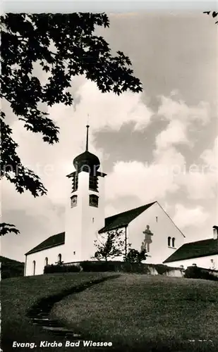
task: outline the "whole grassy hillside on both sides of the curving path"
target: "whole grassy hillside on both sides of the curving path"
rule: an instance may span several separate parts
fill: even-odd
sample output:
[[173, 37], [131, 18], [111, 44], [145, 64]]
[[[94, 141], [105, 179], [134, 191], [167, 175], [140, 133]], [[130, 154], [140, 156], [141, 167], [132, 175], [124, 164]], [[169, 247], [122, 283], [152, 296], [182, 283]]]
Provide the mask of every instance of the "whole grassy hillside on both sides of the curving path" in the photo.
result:
[[[39, 344], [39, 341], [56, 340], [53, 334], [30, 324], [25, 315], [28, 309], [40, 298], [106, 275], [111, 273], [59, 273], [4, 279], [1, 284], [3, 351], [14, 351], [10, 347], [13, 341]], [[64, 298], [56, 303], [52, 315], [87, 339], [112, 341], [116, 351], [217, 352], [217, 308], [217, 282], [121, 274], [119, 278]], [[203, 339], [207, 341], [198, 341]], [[61, 352], [71, 349], [61, 348]], [[46, 350], [60, 352], [60, 348]]]

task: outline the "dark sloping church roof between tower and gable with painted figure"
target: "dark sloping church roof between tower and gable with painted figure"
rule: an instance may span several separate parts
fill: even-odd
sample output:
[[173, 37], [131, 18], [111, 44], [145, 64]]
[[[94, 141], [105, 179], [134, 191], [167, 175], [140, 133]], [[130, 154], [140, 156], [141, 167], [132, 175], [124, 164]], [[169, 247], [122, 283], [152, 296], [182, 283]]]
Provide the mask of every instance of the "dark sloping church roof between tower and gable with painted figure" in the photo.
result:
[[99, 230], [98, 233], [102, 234], [103, 232], [108, 232], [111, 230], [118, 229], [119, 227], [127, 226], [131, 221], [137, 218], [138, 215], [143, 213], [155, 203], [156, 201], [153, 201], [152, 203], [145, 204], [145, 206], [140, 206], [139, 208], [134, 208], [128, 211], [124, 211], [123, 213], [109, 216], [109, 218], [105, 219], [104, 227], [102, 227], [102, 229]]

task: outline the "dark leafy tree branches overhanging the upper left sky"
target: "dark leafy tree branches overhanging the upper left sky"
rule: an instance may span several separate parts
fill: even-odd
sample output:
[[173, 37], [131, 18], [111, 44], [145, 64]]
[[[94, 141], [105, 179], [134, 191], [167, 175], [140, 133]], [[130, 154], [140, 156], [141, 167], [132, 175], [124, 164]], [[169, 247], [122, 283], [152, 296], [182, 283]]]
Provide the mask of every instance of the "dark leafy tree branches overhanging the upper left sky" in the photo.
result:
[[[1, 16], [1, 99], [6, 99], [25, 129], [42, 134], [44, 142], [59, 142], [59, 127], [42, 103], [71, 106], [69, 92], [73, 77], [85, 75], [101, 92], [121, 94], [141, 92], [142, 84], [133, 76], [131, 61], [122, 51], [111, 56], [109, 44], [95, 35], [95, 27], [109, 27], [105, 13], [7, 13]], [[49, 77], [45, 84], [33, 75], [40, 63]], [[32, 170], [25, 168], [17, 153], [11, 127], [1, 111], [1, 178], [12, 182], [16, 191], [33, 196], [47, 189]], [[11, 225], [9, 225], [10, 227]], [[9, 227], [0, 225], [1, 235]], [[13, 231], [13, 226], [10, 231]], [[13, 232], [18, 230], [14, 228]]]

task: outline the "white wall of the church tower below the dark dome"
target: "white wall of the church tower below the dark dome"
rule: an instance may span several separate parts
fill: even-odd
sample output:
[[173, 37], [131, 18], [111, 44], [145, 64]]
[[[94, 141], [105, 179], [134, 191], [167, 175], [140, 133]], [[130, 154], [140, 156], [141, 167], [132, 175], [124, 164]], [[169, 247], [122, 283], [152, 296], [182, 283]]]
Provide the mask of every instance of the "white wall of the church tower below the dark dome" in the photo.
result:
[[[89, 173], [78, 173], [77, 205], [66, 204], [65, 263], [90, 260], [95, 254], [94, 241], [97, 232], [104, 227], [104, 176], [98, 176], [98, 191], [89, 189]], [[90, 206], [90, 194], [99, 197], [98, 207]]]

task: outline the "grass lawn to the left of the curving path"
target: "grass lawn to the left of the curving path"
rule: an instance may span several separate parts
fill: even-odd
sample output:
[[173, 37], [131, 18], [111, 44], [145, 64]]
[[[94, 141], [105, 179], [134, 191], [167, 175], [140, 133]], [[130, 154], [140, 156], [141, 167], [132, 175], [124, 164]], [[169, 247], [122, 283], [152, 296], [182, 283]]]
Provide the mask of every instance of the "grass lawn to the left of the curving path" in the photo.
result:
[[[1, 348], [4, 352], [12, 351], [13, 341], [28, 341], [36, 344], [39, 341], [54, 341], [55, 338], [52, 334], [46, 334], [41, 327], [30, 324], [30, 320], [25, 316], [28, 309], [41, 298], [59, 294], [65, 289], [94, 281], [106, 275], [111, 275], [111, 273], [73, 272], [34, 277], [13, 277], [2, 280]], [[15, 349], [18, 350], [18, 348], [13, 348], [13, 351]], [[22, 348], [22, 351], [26, 350]], [[60, 352], [60, 348], [46, 348], [46, 350], [47, 352]], [[41, 350], [37, 348], [37, 351]]]

